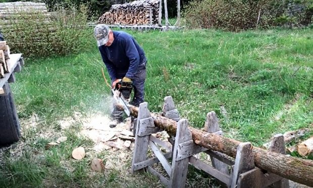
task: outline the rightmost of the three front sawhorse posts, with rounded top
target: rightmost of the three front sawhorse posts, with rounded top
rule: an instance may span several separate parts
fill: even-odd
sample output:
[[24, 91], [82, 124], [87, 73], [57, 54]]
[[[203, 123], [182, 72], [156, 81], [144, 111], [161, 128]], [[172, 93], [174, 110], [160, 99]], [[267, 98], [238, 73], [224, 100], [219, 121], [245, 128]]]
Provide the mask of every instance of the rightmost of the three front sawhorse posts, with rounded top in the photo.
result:
[[[231, 187], [237, 186], [237, 180], [241, 173], [249, 171], [255, 167], [252, 153], [252, 145], [249, 142], [240, 143], [237, 149]], [[238, 187], [241, 187], [238, 185]]]

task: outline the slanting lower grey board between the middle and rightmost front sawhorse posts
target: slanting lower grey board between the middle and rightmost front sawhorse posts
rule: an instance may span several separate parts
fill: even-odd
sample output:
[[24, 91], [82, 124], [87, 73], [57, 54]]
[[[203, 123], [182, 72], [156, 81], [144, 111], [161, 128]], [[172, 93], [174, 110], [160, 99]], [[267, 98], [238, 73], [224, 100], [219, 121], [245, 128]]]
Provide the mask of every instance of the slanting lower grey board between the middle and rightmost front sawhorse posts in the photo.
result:
[[216, 177], [220, 181], [224, 182], [226, 185], [229, 185], [230, 176], [220, 172], [219, 170], [211, 167], [210, 165], [205, 164], [204, 162], [200, 161], [199, 159], [191, 156], [189, 158], [189, 162], [199, 170], [203, 170], [204, 172]]

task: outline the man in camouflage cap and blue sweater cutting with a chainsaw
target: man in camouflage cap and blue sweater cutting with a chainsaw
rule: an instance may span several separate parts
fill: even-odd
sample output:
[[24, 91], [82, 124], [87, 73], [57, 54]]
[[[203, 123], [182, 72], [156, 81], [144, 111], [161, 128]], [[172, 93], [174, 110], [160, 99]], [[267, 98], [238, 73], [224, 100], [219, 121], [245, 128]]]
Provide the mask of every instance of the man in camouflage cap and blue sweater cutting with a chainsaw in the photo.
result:
[[[112, 82], [112, 87], [122, 82], [133, 84], [134, 97], [130, 104], [139, 106], [144, 102], [144, 81], [146, 78], [146, 57], [143, 49], [130, 34], [112, 31], [105, 24], [94, 28], [94, 36]], [[114, 108], [113, 119], [123, 121], [123, 111]]]

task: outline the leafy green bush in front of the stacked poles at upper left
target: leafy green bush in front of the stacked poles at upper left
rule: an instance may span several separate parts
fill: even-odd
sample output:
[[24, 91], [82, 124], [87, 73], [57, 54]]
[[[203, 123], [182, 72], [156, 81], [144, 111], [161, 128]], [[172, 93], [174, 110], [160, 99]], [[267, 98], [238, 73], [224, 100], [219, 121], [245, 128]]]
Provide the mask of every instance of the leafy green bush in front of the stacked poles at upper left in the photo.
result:
[[52, 16], [35, 10], [17, 11], [0, 20], [5, 40], [12, 52], [27, 57], [67, 55], [78, 52], [86, 35], [87, 12], [59, 9]]

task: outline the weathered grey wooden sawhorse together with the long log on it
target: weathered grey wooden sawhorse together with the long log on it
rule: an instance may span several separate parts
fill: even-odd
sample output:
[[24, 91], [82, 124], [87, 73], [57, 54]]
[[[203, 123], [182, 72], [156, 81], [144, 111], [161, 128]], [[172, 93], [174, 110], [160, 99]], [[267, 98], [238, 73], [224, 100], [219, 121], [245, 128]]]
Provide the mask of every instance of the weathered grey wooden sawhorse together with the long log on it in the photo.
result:
[[[275, 187], [289, 187], [288, 181], [284, 178], [313, 186], [311, 174], [313, 162], [286, 156], [282, 135], [274, 137], [271, 149], [267, 151], [252, 147], [250, 143], [240, 143], [239, 141], [228, 139], [218, 134], [218, 132], [212, 134], [189, 128], [188, 121], [185, 119], [176, 122], [167, 117], [152, 114], [147, 109], [147, 103], [141, 103], [139, 109], [130, 107], [130, 110], [132, 115], [138, 116], [136, 120], [132, 171], [136, 172], [146, 168], [149, 172], [158, 176], [168, 187], [184, 186], [188, 162], [218, 178], [229, 187], [266, 187], [273, 183], [275, 183]], [[211, 116], [214, 115], [212, 114]], [[210, 121], [212, 120], [207, 119], [207, 122]], [[165, 130], [169, 135], [175, 137], [174, 149], [164, 142], [156, 140], [151, 135], [161, 130]], [[156, 148], [155, 144], [166, 148], [168, 152], [160, 152], [161, 150]], [[150, 146], [156, 156], [155, 158], [147, 159], [148, 146]], [[225, 171], [222, 171], [223, 166], [219, 168], [207, 166], [204, 162], [192, 156], [199, 152], [205, 152], [212, 157], [218, 158], [220, 161], [230, 165], [232, 170], [227, 174]], [[228, 157], [225, 157], [225, 154], [236, 160], [233, 162]], [[167, 161], [171, 157], [172, 164]], [[150, 167], [150, 165], [159, 161], [170, 176], [170, 179], [165, 178]]]

